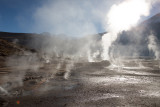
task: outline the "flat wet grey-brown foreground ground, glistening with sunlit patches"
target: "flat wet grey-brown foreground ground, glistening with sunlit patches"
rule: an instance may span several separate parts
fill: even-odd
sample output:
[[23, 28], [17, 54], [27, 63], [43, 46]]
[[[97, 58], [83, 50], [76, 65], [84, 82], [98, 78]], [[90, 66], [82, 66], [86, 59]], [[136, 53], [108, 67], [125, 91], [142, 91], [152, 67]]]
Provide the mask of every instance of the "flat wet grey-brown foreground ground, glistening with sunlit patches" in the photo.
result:
[[[60, 73], [52, 73], [55, 68], [50, 64], [39, 72], [25, 72], [23, 78], [18, 75], [20, 71], [14, 75], [1, 72], [0, 105], [159, 107], [159, 62], [152, 59], [125, 59], [111, 65], [107, 61], [85, 62], [75, 64], [71, 71], [59, 70]], [[14, 81], [6, 82], [7, 77]]]

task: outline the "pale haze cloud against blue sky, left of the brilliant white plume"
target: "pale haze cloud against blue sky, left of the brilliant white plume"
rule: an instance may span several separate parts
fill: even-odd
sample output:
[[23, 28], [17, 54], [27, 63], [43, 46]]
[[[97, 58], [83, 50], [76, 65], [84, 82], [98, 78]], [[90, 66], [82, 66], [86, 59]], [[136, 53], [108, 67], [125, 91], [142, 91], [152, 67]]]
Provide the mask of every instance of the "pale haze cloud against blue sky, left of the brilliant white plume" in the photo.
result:
[[34, 12], [33, 29], [74, 37], [96, 34], [103, 29], [108, 8], [119, 1], [47, 0]]

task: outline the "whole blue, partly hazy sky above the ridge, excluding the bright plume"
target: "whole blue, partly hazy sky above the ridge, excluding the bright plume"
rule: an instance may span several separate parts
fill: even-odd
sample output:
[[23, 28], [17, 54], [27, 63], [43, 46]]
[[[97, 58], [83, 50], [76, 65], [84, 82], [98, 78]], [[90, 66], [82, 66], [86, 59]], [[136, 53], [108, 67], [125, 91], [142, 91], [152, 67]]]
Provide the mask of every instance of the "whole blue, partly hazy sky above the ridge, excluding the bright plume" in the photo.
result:
[[[105, 32], [110, 7], [123, 0], [0, 0], [0, 31], [82, 36]], [[160, 12], [153, 6], [149, 17]], [[148, 17], [143, 17], [146, 20]]]

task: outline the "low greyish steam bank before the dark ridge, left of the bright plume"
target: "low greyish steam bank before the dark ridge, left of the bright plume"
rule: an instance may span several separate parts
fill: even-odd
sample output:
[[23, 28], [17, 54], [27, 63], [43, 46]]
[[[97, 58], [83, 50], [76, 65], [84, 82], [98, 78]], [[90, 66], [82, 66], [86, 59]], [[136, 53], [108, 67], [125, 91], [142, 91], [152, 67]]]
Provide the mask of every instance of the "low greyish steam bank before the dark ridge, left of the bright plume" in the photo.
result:
[[[36, 43], [36, 40], [33, 42]], [[82, 38], [52, 35], [49, 39], [42, 42], [45, 45], [40, 46], [40, 51], [45, 53], [44, 59], [47, 60], [52, 60], [54, 57], [61, 57], [71, 58], [74, 61], [83, 60], [91, 62], [95, 61], [102, 51], [101, 36], [98, 34], [88, 35]]]

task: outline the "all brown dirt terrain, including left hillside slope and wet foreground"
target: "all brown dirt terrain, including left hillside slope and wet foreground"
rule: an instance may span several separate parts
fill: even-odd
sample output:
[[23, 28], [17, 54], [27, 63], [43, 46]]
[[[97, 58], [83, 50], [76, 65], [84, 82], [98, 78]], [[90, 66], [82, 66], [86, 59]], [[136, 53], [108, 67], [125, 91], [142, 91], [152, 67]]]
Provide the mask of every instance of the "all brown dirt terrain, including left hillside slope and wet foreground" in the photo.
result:
[[160, 106], [160, 61], [87, 62], [0, 40], [0, 107]]

